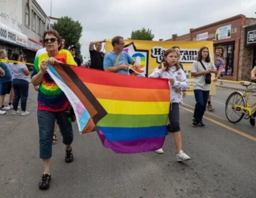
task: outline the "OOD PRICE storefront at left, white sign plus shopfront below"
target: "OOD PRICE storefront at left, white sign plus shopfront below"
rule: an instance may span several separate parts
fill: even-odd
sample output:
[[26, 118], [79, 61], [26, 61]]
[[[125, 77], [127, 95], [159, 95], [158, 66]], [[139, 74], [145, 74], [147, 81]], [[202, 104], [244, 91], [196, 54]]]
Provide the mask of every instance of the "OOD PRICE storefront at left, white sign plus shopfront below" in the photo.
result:
[[0, 48], [7, 52], [9, 59], [13, 52], [26, 56], [23, 50], [27, 47], [28, 39], [26, 35], [0, 22]]

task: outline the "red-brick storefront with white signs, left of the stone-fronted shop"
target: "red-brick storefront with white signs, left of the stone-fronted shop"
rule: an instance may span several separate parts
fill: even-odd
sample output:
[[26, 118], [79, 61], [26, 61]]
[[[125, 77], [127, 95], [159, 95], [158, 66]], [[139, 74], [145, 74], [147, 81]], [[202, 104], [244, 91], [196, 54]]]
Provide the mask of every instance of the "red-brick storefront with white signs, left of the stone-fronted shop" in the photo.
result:
[[237, 15], [222, 21], [218, 21], [200, 28], [192, 29], [191, 39], [198, 40], [197, 35], [207, 32], [205, 40], [213, 40], [214, 51], [217, 46], [223, 47], [223, 59], [225, 69], [222, 77], [226, 80], [238, 80], [239, 45], [241, 39], [241, 28], [245, 25], [245, 16]]

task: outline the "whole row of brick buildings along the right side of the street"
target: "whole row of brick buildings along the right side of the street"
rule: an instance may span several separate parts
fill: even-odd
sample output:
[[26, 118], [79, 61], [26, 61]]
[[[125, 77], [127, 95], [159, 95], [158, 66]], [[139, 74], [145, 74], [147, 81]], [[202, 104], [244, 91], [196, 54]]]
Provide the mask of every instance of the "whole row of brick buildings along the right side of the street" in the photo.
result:
[[250, 80], [252, 67], [256, 64], [256, 37], [255, 42], [246, 43], [245, 40], [248, 32], [251, 38], [252, 32], [249, 31], [249, 27], [253, 29], [255, 26], [256, 19], [239, 14], [203, 27], [190, 29], [189, 34], [186, 35], [172, 35], [168, 40], [213, 40], [214, 48], [219, 45], [224, 48], [222, 55], [226, 67], [222, 72], [223, 79]]

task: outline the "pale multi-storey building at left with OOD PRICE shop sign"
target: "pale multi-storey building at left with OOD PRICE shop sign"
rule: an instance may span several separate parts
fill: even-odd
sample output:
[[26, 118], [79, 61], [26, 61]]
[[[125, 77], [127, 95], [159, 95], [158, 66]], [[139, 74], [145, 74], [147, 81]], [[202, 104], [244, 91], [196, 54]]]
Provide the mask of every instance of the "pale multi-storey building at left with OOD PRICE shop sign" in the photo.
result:
[[43, 32], [50, 19], [36, 0], [0, 1], [0, 48], [10, 56], [18, 52], [33, 63], [36, 51], [43, 47]]

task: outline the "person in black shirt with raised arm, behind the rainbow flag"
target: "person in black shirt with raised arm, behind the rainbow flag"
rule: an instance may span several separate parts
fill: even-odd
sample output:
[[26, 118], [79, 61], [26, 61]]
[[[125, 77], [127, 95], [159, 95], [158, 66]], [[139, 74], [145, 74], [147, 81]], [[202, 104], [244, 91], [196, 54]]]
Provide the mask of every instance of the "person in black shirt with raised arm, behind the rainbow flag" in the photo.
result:
[[[103, 58], [105, 54], [101, 52], [101, 48], [102, 48], [102, 43], [105, 43], [105, 42], [106, 42], [106, 39], [90, 42], [90, 45], [89, 45], [89, 52], [91, 57], [90, 68], [104, 71]], [[94, 50], [94, 45], [96, 50]]]

